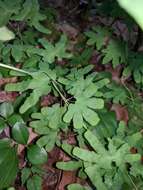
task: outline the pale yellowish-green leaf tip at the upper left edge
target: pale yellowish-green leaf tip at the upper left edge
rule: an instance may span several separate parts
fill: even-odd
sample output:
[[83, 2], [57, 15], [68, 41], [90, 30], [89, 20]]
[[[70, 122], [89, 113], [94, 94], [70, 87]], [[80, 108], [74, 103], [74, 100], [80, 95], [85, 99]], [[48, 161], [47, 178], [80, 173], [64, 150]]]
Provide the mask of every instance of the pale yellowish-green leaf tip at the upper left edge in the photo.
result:
[[0, 27], [0, 41], [9, 41], [15, 38], [15, 34], [6, 26]]

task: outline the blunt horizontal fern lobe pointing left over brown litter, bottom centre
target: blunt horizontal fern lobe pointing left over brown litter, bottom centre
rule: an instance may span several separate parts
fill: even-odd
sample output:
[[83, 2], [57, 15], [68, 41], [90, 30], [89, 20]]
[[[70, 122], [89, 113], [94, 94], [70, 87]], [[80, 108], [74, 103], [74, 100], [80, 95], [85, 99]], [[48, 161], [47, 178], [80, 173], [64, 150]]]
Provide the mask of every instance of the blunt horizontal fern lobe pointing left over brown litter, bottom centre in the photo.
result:
[[82, 167], [82, 163], [77, 161], [57, 162], [56, 166], [61, 170], [74, 171]]

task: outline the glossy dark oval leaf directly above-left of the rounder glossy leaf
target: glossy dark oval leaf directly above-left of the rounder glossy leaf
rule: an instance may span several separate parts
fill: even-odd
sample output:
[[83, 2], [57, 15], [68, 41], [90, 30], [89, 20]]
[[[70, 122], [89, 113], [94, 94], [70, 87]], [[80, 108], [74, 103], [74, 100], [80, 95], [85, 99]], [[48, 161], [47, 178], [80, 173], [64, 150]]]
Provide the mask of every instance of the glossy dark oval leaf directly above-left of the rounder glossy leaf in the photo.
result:
[[29, 131], [24, 123], [17, 122], [12, 127], [12, 136], [16, 142], [20, 144], [27, 144]]

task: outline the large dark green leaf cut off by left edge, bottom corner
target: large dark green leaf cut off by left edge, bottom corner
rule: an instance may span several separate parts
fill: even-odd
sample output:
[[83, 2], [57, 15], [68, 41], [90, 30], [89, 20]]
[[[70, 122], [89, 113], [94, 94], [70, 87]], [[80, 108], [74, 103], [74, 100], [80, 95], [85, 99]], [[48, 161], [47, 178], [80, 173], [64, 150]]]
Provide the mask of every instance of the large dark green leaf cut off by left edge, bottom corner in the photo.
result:
[[0, 140], [0, 188], [8, 187], [16, 178], [18, 158], [7, 139]]

